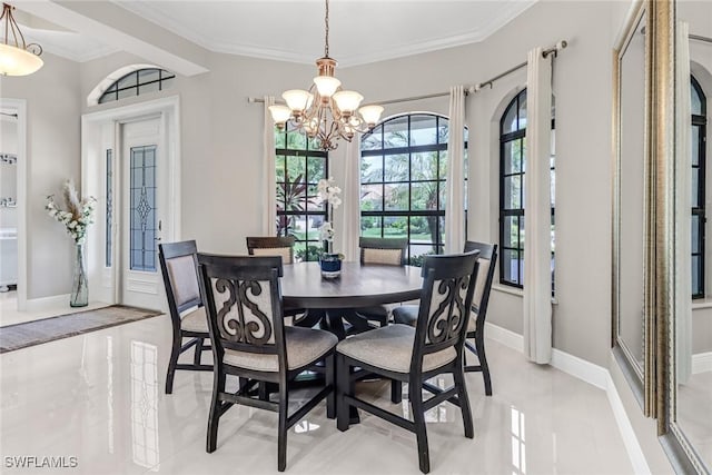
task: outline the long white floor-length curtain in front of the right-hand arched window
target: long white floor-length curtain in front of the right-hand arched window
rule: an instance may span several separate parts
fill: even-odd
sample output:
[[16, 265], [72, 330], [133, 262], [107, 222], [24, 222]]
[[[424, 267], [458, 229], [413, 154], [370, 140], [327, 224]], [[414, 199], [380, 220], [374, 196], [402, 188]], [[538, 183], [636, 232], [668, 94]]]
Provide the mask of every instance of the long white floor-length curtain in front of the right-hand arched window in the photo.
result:
[[538, 364], [552, 357], [551, 273], [551, 56], [528, 52], [526, 77], [526, 186], [524, 216], [524, 354]]

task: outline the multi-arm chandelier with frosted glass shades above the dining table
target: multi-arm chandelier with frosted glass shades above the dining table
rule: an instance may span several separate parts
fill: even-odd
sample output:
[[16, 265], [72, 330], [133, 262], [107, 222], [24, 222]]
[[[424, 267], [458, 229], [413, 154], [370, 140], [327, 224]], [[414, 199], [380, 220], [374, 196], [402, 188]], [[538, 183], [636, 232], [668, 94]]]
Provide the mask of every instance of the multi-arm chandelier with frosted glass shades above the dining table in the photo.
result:
[[326, 34], [324, 57], [316, 60], [318, 76], [308, 90], [290, 89], [281, 97], [287, 106], [270, 106], [269, 112], [279, 130], [287, 122], [316, 139], [325, 151], [335, 150], [338, 139], [352, 141], [356, 132], [374, 128], [383, 107], [358, 108], [364, 97], [356, 91], [343, 90], [342, 81], [334, 77], [336, 60], [329, 58], [329, 0], [326, 0], [324, 18]]

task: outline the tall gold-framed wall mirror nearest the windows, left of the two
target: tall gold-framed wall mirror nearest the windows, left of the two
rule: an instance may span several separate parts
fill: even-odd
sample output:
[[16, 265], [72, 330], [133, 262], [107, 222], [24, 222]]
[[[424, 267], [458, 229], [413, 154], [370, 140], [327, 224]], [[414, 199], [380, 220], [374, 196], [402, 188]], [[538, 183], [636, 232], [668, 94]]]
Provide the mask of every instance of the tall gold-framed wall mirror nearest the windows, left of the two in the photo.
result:
[[654, 222], [649, 107], [649, 3], [639, 1], [613, 53], [612, 346], [636, 399], [654, 413], [649, 259]]

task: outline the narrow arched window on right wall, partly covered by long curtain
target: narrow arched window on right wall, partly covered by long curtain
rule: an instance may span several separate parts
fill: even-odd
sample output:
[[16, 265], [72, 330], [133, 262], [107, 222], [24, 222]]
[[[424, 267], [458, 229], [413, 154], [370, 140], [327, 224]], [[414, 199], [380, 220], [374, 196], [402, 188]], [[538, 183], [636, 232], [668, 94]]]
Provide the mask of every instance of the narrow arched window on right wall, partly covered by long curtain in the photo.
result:
[[[552, 119], [552, 289], [554, 284], [554, 119]], [[500, 120], [500, 283], [520, 288], [524, 286], [525, 175], [526, 89], [512, 99]]]

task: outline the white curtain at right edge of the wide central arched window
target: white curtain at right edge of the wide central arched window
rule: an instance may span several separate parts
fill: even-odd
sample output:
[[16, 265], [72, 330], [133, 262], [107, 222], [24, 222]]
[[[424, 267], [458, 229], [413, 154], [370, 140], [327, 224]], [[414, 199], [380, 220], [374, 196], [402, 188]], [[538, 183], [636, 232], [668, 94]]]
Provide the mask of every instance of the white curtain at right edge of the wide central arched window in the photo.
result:
[[449, 88], [449, 138], [447, 140], [447, 196], [445, 198], [445, 253], [465, 247], [465, 88]]

